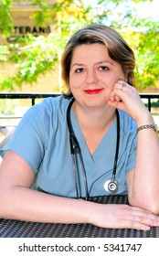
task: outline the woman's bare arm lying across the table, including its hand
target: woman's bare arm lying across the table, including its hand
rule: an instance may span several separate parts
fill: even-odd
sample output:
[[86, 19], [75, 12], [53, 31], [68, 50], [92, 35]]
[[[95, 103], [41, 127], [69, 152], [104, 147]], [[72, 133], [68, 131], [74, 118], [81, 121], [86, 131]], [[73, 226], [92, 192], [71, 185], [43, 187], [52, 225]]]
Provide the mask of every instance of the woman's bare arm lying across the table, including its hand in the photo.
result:
[[32, 169], [19, 155], [6, 152], [0, 166], [0, 218], [91, 223], [102, 228], [117, 229], [147, 230], [151, 226], [159, 226], [159, 217], [143, 208], [102, 205], [33, 190], [34, 178]]

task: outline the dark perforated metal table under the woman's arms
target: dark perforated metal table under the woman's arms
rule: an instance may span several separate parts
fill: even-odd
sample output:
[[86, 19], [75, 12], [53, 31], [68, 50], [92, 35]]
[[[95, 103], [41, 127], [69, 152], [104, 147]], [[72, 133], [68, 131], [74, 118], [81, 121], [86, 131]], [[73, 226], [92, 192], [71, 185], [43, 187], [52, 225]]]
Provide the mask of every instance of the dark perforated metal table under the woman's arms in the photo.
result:
[[[101, 204], [128, 204], [126, 196], [93, 197]], [[148, 231], [102, 229], [91, 224], [52, 224], [0, 219], [0, 238], [159, 238], [159, 227]]]

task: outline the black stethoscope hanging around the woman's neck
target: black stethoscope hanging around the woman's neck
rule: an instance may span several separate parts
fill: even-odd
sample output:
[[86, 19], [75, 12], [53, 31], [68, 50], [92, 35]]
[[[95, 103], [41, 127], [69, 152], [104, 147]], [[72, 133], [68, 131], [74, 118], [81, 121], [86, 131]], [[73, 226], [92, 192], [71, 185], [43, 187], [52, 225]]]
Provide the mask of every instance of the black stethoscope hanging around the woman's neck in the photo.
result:
[[[79, 168], [77, 165], [77, 156], [79, 155], [80, 159], [80, 165], [82, 170], [82, 176], [84, 181], [84, 187], [85, 187], [85, 199], [89, 199], [89, 191], [88, 191], [88, 183], [87, 183], [87, 176], [86, 176], [86, 170], [83, 163], [83, 158], [81, 155], [80, 150], [80, 144], [78, 142], [77, 137], [75, 136], [75, 133], [73, 131], [72, 123], [70, 120], [70, 109], [75, 99], [73, 98], [69, 102], [68, 110], [67, 110], [67, 123], [68, 123], [68, 129], [69, 129], [69, 145], [70, 145], [70, 154], [72, 156], [72, 164], [73, 164], [73, 173], [75, 176], [75, 187], [76, 187], [76, 193], [77, 197], [80, 198], [80, 189], [79, 189]], [[117, 140], [116, 140], [116, 150], [115, 150], [115, 157], [114, 157], [114, 164], [113, 164], [113, 170], [112, 170], [112, 176], [111, 179], [107, 180], [104, 183], [104, 189], [106, 192], [110, 195], [113, 195], [116, 193], [119, 189], [119, 183], [115, 179], [116, 176], [116, 168], [117, 168], [117, 162], [118, 162], [118, 153], [119, 153], [119, 144], [120, 144], [120, 116], [118, 110], [116, 110], [116, 116], [117, 116]]]

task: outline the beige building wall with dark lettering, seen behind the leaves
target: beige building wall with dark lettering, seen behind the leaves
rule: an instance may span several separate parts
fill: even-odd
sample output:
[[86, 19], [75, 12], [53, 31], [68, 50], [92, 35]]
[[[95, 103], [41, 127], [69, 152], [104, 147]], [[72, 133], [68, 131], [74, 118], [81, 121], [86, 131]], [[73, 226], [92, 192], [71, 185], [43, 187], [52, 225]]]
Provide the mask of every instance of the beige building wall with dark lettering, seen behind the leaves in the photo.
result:
[[[49, 0], [48, 4], [55, 3], [55, 0]], [[12, 36], [4, 39], [3, 37], [0, 37], [0, 44], [9, 43], [14, 40], [15, 37], [25, 36], [27, 32], [33, 33], [35, 36], [37, 35], [44, 35], [47, 36], [50, 31], [53, 30], [53, 27], [51, 24], [48, 24], [48, 27], [40, 27], [36, 26], [34, 24], [34, 20], [32, 18], [33, 12], [37, 10], [38, 6], [31, 6], [29, 5], [29, 1], [22, 1], [22, 3], [18, 3], [16, 1], [13, 1], [13, 8], [12, 8], [12, 14], [13, 14], [13, 24], [15, 27], [15, 30], [12, 33]], [[7, 74], [13, 75], [15, 72], [15, 67], [11, 64], [7, 63], [0, 63], [0, 75], [3, 77]], [[48, 72], [46, 76], [41, 76], [37, 83], [35, 83], [33, 86], [24, 84], [23, 88], [21, 90], [16, 91], [30, 91], [30, 92], [52, 92], [52, 91], [58, 91], [58, 67]]]

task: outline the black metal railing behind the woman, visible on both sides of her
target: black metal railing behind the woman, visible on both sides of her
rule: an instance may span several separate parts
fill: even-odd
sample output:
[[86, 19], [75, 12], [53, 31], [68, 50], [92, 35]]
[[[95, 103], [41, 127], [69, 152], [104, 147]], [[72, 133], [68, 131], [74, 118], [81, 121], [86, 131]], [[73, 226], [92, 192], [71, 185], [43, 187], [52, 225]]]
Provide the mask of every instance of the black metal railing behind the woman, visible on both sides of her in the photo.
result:
[[[30, 99], [31, 104], [34, 105], [36, 104], [36, 99], [43, 99], [43, 98], [48, 98], [48, 97], [57, 97], [60, 95], [59, 93], [44, 93], [44, 92], [0, 92], [0, 99]], [[152, 108], [152, 101], [154, 99], [159, 100], [159, 94], [158, 93], [140, 93], [140, 96], [142, 99], [147, 100], [147, 107], [148, 110], [151, 112]]]

